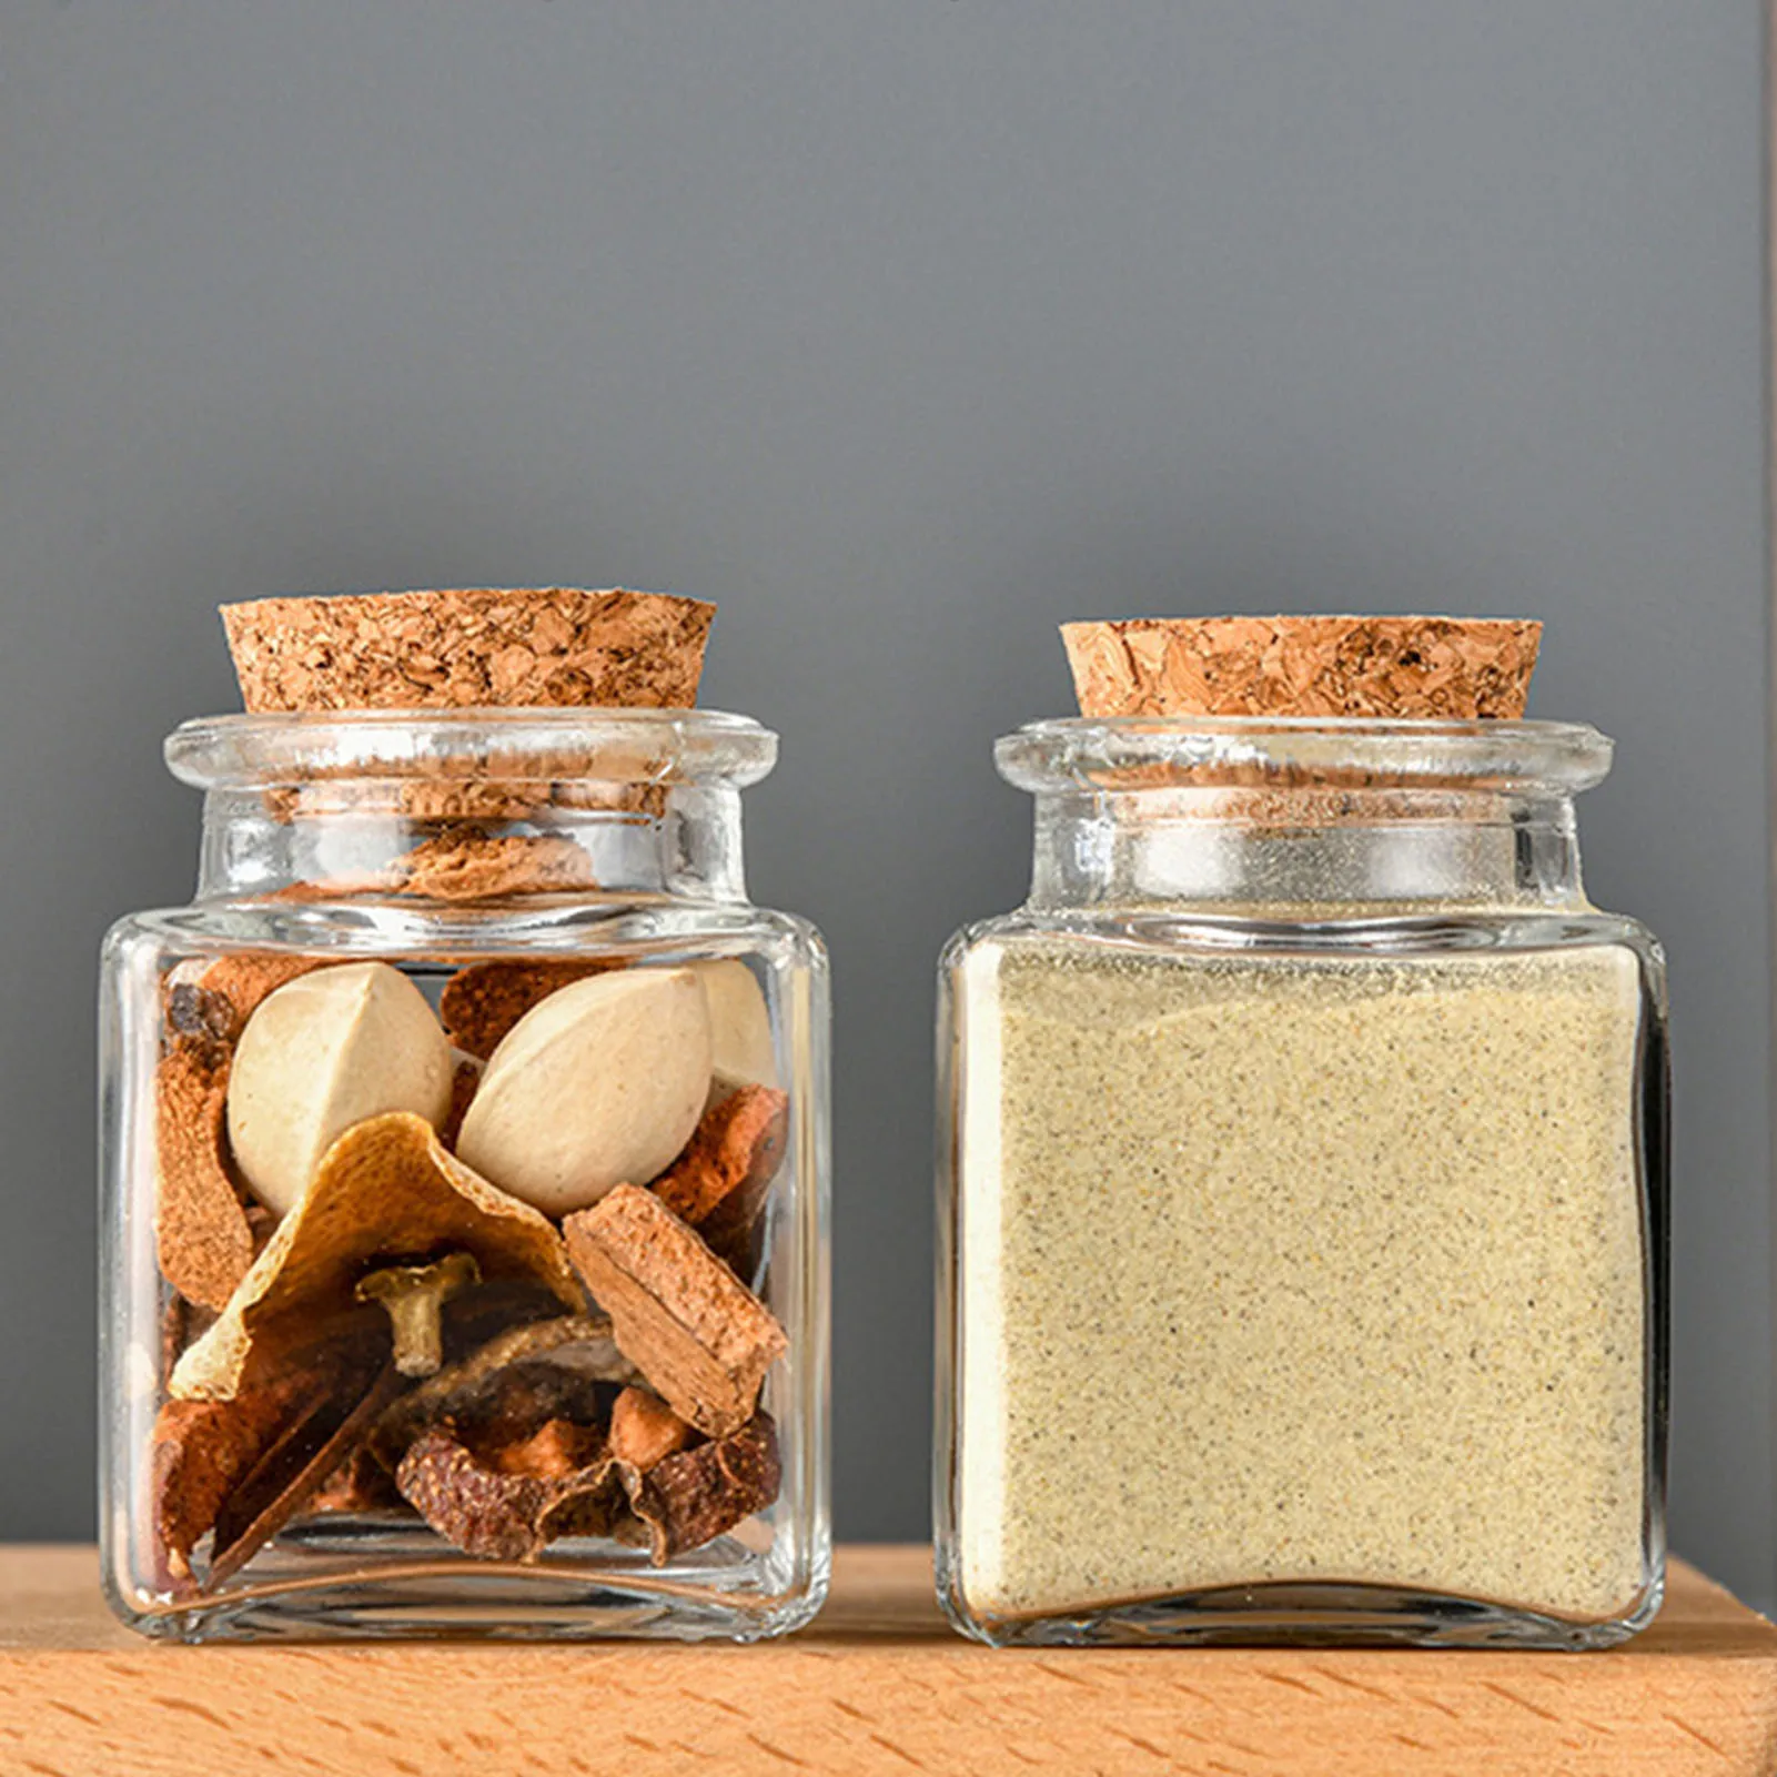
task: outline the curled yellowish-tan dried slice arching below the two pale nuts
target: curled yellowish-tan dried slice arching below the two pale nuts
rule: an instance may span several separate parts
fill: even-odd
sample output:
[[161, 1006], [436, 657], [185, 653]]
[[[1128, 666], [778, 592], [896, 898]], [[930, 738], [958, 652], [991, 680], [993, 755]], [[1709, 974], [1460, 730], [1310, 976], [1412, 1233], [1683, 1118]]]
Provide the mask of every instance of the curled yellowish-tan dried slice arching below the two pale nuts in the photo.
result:
[[327, 1150], [222, 1319], [179, 1359], [171, 1393], [231, 1398], [281, 1351], [348, 1317], [379, 1260], [439, 1251], [473, 1253], [490, 1279], [535, 1278], [569, 1308], [585, 1301], [551, 1223], [450, 1155], [425, 1118], [394, 1111]]

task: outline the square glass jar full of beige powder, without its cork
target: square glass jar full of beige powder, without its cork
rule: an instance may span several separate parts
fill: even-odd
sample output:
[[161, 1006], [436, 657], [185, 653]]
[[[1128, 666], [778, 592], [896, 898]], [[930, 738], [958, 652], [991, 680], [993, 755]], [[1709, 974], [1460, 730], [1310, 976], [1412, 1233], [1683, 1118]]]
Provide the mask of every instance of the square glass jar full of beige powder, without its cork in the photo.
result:
[[986, 1642], [1599, 1647], [1663, 1574], [1658, 944], [1610, 741], [1040, 721], [940, 979], [938, 1589]]

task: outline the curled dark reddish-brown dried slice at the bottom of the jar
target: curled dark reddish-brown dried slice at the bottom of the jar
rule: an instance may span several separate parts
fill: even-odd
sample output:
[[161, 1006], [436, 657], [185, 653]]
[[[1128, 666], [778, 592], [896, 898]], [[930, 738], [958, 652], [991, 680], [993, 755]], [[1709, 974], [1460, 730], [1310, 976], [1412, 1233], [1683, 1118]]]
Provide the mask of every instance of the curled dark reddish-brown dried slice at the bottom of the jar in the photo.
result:
[[535, 1560], [556, 1535], [601, 1535], [618, 1505], [602, 1438], [560, 1423], [489, 1450], [446, 1420], [414, 1441], [394, 1478], [441, 1537], [482, 1560]]

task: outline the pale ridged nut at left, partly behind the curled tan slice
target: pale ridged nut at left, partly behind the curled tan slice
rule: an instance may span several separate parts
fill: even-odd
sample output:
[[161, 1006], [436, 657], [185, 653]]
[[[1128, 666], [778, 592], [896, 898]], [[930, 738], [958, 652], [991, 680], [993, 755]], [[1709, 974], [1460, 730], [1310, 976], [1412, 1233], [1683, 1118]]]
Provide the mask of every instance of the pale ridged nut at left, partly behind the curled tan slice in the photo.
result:
[[455, 1054], [425, 995], [387, 963], [316, 968], [247, 1020], [227, 1082], [227, 1134], [252, 1194], [283, 1215], [334, 1139], [410, 1111], [434, 1128]]

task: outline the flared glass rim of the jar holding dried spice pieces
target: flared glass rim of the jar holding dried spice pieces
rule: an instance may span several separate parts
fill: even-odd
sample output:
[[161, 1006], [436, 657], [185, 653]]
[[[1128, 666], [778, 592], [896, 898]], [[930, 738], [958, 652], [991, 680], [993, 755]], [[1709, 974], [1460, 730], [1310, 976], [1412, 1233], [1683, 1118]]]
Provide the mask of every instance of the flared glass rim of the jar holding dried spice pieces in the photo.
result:
[[195, 716], [165, 739], [197, 789], [313, 778], [489, 778], [745, 789], [777, 764], [777, 734], [720, 709], [339, 709]]

